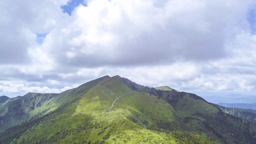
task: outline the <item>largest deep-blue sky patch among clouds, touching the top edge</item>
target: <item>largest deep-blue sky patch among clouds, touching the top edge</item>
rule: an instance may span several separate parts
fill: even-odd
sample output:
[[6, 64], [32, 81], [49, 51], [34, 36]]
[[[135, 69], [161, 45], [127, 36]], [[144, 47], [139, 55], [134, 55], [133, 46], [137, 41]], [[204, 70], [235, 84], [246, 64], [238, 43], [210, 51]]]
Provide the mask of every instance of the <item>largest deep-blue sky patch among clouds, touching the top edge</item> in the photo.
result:
[[84, 0], [70, 0], [68, 3], [64, 6], [61, 6], [62, 11], [65, 13], [68, 13], [68, 15], [71, 15], [72, 11], [79, 6], [79, 4], [82, 4], [86, 6], [86, 3]]

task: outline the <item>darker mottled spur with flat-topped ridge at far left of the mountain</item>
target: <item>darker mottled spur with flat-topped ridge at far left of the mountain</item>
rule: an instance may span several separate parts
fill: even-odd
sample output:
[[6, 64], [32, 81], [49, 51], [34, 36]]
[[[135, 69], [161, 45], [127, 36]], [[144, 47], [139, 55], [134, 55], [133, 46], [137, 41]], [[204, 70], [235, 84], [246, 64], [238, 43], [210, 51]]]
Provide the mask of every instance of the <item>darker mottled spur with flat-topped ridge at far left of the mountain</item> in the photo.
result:
[[45, 113], [44, 106], [41, 106], [42, 101], [53, 96], [56, 94], [28, 93], [2, 104], [0, 106], [0, 120], [3, 120], [4, 124], [0, 126], [0, 130], [26, 122], [32, 117], [37, 118], [40, 114]]

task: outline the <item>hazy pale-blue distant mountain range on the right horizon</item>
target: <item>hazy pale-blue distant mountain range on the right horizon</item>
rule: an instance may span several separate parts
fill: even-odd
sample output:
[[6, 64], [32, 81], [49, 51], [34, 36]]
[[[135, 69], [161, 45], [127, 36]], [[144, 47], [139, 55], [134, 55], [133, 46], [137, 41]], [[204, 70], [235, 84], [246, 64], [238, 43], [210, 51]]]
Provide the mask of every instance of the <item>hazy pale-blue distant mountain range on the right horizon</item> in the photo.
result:
[[240, 95], [240, 94], [228, 94], [224, 96], [201, 96], [208, 102], [219, 103], [256, 103], [256, 96], [252, 95]]

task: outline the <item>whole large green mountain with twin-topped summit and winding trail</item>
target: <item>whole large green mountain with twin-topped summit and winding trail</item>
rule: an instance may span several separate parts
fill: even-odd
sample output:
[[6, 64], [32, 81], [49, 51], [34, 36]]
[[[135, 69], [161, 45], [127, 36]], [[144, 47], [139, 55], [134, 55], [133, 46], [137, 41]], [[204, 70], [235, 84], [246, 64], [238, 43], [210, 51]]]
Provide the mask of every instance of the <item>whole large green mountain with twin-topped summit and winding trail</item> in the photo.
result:
[[195, 94], [120, 76], [0, 105], [1, 144], [253, 144], [255, 130]]

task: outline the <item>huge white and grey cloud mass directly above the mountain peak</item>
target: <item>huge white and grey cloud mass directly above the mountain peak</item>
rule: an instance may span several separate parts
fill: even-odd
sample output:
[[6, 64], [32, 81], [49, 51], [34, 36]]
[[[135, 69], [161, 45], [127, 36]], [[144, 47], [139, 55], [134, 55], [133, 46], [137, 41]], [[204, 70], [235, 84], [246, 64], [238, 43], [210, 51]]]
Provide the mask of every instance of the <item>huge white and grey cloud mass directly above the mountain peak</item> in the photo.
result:
[[224, 58], [227, 40], [250, 29], [250, 4], [172, 0], [159, 8], [154, 1], [93, 0], [78, 6], [74, 21], [49, 34], [45, 45], [59, 53], [58, 63], [78, 67]]

